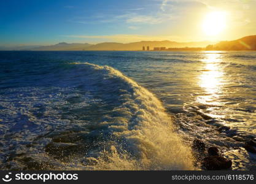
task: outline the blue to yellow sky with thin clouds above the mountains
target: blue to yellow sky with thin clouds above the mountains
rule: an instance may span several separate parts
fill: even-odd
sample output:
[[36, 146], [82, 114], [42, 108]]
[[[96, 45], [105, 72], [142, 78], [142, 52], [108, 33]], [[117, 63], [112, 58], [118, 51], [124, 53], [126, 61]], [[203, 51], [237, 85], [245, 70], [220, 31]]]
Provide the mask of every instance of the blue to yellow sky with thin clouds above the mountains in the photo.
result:
[[[256, 0], [0, 0], [0, 45], [233, 40], [256, 34], [255, 9]], [[211, 12], [226, 20], [214, 36], [202, 28]]]

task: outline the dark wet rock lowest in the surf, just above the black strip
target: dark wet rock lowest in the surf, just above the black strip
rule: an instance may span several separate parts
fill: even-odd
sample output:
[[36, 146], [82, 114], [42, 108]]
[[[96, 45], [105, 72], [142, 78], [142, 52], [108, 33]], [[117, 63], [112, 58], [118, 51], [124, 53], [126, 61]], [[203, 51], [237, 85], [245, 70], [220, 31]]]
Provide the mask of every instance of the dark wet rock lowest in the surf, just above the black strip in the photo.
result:
[[228, 169], [232, 166], [232, 161], [222, 156], [208, 156], [203, 159], [203, 166], [207, 170]]

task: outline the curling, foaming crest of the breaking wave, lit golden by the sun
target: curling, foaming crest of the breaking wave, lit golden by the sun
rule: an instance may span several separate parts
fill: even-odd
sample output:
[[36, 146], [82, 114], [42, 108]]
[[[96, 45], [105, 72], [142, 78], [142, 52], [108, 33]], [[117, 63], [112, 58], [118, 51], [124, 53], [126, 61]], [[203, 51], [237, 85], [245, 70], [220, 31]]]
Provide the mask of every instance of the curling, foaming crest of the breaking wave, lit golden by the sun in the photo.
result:
[[111, 144], [98, 158], [89, 158], [96, 162], [93, 169], [193, 169], [190, 148], [182, 144], [171, 117], [152, 93], [112, 67], [73, 64], [76, 74], [86, 76], [87, 89], [100, 91], [103, 101], [115, 104], [98, 124], [96, 132], [107, 135], [104, 141], [111, 139]]

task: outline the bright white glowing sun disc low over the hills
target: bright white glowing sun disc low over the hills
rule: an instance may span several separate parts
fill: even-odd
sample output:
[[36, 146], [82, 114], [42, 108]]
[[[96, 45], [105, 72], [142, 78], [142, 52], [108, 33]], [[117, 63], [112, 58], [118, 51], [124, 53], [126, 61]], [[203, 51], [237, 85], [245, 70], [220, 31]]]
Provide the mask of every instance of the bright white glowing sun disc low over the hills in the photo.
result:
[[204, 17], [202, 29], [204, 34], [208, 36], [217, 36], [227, 26], [227, 13], [211, 12]]

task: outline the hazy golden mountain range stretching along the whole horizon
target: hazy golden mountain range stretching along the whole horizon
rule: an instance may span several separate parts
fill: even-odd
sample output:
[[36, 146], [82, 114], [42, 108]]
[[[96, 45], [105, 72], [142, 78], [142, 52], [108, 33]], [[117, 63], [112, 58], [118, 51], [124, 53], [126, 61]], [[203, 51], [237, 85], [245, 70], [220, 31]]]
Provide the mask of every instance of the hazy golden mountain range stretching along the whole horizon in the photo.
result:
[[246, 36], [241, 39], [215, 42], [174, 42], [169, 40], [163, 41], [141, 41], [122, 44], [117, 42], [103, 42], [99, 44], [68, 44], [60, 42], [55, 45], [26, 45], [15, 47], [0, 47], [0, 50], [142, 50], [142, 47], [149, 46], [150, 50], [154, 47], [166, 48], [185, 48], [195, 47], [203, 50], [256, 50], [256, 35]]

